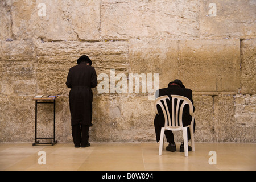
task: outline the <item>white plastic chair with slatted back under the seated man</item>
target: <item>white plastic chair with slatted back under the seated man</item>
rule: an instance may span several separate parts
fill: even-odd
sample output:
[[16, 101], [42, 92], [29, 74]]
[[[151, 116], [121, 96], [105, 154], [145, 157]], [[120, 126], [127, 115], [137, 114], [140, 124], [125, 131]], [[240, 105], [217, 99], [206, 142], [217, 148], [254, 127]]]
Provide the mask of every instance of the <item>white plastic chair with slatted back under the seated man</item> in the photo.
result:
[[[172, 100], [171, 100], [172, 119], [170, 118], [170, 111], [168, 109], [167, 102], [166, 102], [167, 100], [170, 101], [169, 96], [160, 96], [156, 98], [154, 102], [155, 113], [158, 114], [157, 105], [160, 105], [163, 111], [164, 120], [165, 120], [165, 125], [164, 127], [162, 127], [161, 134], [160, 134], [159, 155], [162, 155], [162, 150], [164, 147], [164, 131], [165, 130], [171, 130], [171, 131], [182, 130], [183, 140], [184, 140], [184, 152], [185, 152], [185, 156], [187, 157], [188, 156], [188, 134], [187, 134], [188, 127], [190, 129], [190, 134], [191, 134], [192, 151], [195, 151], [195, 142], [194, 142], [194, 133], [193, 133], [194, 131], [193, 130], [193, 125], [194, 125], [193, 104], [187, 97], [177, 96], [177, 95], [171, 95], [171, 97], [172, 97]], [[177, 101], [176, 109], [175, 109], [175, 100]], [[183, 102], [179, 107], [181, 103], [180, 101], [183, 101]], [[183, 127], [182, 114], [183, 114], [183, 108], [186, 104], [189, 105], [189, 113], [192, 116], [192, 121], [189, 126]], [[178, 117], [178, 114], [179, 114], [179, 117]]]

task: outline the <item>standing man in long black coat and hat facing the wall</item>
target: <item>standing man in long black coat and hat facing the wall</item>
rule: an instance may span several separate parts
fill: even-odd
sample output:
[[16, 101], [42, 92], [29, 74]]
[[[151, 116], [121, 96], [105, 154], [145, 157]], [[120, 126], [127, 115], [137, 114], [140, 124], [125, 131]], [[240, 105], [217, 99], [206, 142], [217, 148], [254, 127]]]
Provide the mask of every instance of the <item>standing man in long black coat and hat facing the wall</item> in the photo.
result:
[[92, 126], [92, 89], [97, 86], [97, 75], [88, 56], [77, 59], [69, 69], [66, 85], [69, 92], [72, 137], [75, 147], [89, 147], [89, 127]]

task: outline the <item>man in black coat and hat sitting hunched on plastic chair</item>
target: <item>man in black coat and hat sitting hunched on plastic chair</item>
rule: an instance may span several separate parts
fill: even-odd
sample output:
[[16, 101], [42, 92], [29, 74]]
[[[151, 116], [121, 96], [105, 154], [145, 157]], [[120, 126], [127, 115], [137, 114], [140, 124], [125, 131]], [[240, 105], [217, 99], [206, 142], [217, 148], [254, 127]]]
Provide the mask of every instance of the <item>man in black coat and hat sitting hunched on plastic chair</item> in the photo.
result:
[[[168, 88], [159, 89], [156, 91], [156, 97], [166, 96], [166, 95], [167, 96], [170, 96], [170, 95], [184, 96], [184, 97], [187, 97], [189, 100], [191, 100], [191, 102], [193, 104], [192, 90], [186, 89], [180, 80], [174, 80], [168, 84]], [[171, 103], [170, 101], [167, 101], [168, 107], [170, 106], [170, 103]], [[159, 114], [156, 114], [155, 120], [154, 120], [157, 142], [159, 142], [159, 140], [160, 140], [161, 127], [164, 127], [164, 115], [163, 115], [162, 109], [158, 108], [158, 111], [159, 111]], [[193, 111], [195, 111], [194, 106], [193, 106]], [[171, 112], [170, 112], [170, 117], [171, 117]], [[188, 105], [184, 106], [182, 120], [183, 120], [184, 127], [190, 125], [190, 123], [191, 123], [192, 116], [189, 114], [189, 106]], [[196, 126], [196, 123], [194, 122], [194, 126], [193, 126], [194, 131], [195, 131], [195, 126]], [[169, 143], [169, 145], [166, 147], [166, 150], [175, 152], [176, 144], [174, 142], [174, 134], [170, 130], [164, 131], [164, 134], [166, 135], [167, 142]], [[191, 139], [191, 136], [190, 136], [190, 131], [188, 128], [188, 140], [189, 139]], [[188, 146], [188, 150], [191, 151], [192, 147]], [[181, 143], [181, 146], [180, 146], [180, 152], [184, 152], [183, 142]]]

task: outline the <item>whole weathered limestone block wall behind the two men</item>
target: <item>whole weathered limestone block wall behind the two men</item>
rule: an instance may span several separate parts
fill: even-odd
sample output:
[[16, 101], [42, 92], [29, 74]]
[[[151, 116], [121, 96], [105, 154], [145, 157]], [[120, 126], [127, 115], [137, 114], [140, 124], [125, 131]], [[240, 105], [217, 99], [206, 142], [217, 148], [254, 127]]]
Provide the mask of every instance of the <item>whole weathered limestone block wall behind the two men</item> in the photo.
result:
[[[125, 86], [131, 73], [157, 73], [159, 88], [179, 78], [193, 90], [196, 142], [255, 142], [256, 1], [0, 3], [0, 142], [34, 141], [39, 93], [59, 95], [56, 139], [72, 142], [65, 81], [81, 55], [109, 78], [93, 89], [90, 141], [155, 142], [152, 94], [142, 80], [139, 92]], [[108, 92], [99, 92], [103, 81]], [[51, 137], [53, 109], [38, 109], [38, 137]]]

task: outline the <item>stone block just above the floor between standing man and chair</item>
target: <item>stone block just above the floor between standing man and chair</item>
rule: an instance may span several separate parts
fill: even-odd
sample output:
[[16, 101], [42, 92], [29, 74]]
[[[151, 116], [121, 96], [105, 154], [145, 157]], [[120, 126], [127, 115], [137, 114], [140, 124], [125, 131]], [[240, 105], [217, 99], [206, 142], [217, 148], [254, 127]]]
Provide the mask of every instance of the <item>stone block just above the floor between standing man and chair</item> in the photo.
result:
[[153, 106], [147, 96], [98, 95], [93, 100], [90, 137], [111, 142], [155, 140]]

